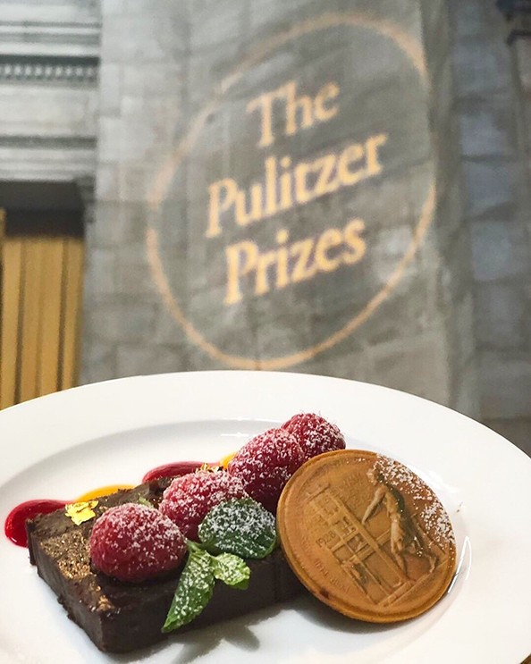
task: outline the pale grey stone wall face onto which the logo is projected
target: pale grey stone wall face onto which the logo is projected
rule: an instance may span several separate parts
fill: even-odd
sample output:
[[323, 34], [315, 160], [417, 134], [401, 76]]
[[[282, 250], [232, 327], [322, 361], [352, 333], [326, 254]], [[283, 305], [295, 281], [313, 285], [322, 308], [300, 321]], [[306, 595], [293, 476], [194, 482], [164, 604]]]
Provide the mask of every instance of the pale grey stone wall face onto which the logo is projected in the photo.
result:
[[[364, 18], [349, 22], [354, 13]], [[339, 19], [326, 23], [331, 15]], [[431, 20], [446, 25], [441, 7]], [[437, 68], [430, 92], [430, 77], [413, 63], [425, 55], [422, 25], [416, 0], [103, 4], [86, 382], [291, 369], [381, 383], [477, 415], [457, 142], [445, 139], [436, 160], [432, 143], [451, 122], [449, 32], [439, 39], [441, 62], [429, 63]], [[313, 98], [337, 83], [337, 113], [286, 136], [277, 100], [274, 145], [259, 147], [259, 112], [247, 105], [291, 80]], [[382, 134], [371, 177], [245, 226], [232, 209], [208, 237], [213, 183], [232, 178], [250, 188], [264, 181], [268, 157], [313, 163]], [[343, 232], [353, 219], [364, 223], [362, 257], [325, 262], [300, 282], [291, 259], [282, 282], [280, 249]], [[229, 256], [242, 242], [274, 252], [267, 292], [257, 292], [254, 266], [228, 304]], [[334, 247], [326, 256], [339, 256]], [[248, 259], [242, 250], [232, 269], [243, 272]]]

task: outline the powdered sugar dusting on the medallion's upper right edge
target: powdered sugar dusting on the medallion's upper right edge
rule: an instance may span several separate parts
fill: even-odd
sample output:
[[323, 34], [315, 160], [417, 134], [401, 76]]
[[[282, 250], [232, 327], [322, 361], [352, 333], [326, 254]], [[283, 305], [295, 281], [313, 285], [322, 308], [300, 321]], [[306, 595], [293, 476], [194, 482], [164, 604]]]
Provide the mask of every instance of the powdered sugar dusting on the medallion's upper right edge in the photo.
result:
[[454, 544], [450, 517], [441, 501], [418, 475], [399, 461], [383, 455], [377, 456], [373, 472], [376, 481], [381, 478], [385, 484], [409, 495], [413, 501], [413, 516], [434, 542], [443, 548]]

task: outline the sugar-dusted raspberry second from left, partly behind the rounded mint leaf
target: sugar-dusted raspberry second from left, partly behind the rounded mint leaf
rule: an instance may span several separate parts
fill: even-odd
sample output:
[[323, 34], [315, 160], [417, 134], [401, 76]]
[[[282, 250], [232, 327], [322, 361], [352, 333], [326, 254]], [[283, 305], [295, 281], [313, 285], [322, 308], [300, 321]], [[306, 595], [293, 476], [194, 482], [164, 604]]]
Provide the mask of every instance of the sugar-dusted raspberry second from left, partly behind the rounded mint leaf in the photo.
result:
[[223, 500], [249, 498], [238, 477], [224, 470], [199, 470], [173, 480], [159, 509], [177, 524], [185, 537], [198, 539], [198, 527], [206, 514]]

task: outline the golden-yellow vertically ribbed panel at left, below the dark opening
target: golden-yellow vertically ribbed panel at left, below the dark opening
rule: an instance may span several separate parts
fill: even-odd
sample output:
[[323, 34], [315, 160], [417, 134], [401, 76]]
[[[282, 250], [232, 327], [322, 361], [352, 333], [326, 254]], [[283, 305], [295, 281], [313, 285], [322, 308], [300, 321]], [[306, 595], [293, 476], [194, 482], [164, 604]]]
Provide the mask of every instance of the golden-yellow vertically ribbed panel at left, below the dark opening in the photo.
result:
[[[43, 227], [47, 228], [47, 224]], [[0, 408], [78, 380], [84, 242], [0, 214]]]

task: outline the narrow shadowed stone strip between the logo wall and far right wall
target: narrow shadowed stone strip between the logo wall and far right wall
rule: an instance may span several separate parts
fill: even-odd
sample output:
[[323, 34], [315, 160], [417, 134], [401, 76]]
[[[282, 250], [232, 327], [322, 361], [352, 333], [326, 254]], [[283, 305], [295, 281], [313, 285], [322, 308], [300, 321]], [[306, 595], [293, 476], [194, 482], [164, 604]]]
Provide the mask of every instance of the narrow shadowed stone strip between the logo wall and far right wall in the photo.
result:
[[[446, 336], [451, 367], [452, 408], [478, 417], [478, 354], [474, 339], [474, 298], [470, 239], [462, 187], [459, 116], [456, 113], [454, 35], [446, 0], [422, 3], [426, 62], [431, 76], [432, 140], [437, 155], [438, 223], [435, 236], [440, 263]], [[451, 312], [451, 315], [448, 315]]]

